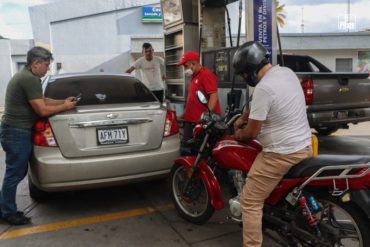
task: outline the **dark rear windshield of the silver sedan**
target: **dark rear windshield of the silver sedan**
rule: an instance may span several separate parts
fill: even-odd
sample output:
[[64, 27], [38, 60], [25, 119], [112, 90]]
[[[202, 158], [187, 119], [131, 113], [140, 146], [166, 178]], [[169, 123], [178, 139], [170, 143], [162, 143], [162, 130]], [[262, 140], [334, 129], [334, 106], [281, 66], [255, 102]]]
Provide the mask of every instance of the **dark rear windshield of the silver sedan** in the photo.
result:
[[79, 98], [78, 105], [152, 102], [156, 98], [139, 80], [123, 76], [80, 76], [48, 81], [45, 97]]

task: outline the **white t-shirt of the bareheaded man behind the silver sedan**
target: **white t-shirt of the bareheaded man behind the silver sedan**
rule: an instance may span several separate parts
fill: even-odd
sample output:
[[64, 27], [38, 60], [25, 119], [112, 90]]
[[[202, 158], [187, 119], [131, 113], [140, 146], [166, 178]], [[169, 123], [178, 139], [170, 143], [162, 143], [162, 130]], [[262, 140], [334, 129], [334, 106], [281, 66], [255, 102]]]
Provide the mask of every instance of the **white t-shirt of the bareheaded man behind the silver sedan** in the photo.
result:
[[163, 58], [153, 56], [153, 59], [148, 61], [145, 57], [141, 57], [132, 66], [140, 70], [141, 79], [150, 90], [164, 89], [161, 74], [161, 66], [164, 66]]

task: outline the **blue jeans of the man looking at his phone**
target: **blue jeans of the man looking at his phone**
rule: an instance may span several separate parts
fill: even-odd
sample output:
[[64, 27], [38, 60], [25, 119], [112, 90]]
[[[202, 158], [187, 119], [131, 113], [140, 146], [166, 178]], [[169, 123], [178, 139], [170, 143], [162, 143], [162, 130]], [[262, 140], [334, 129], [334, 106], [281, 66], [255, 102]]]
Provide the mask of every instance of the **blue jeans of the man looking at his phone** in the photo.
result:
[[17, 212], [15, 200], [17, 187], [27, 174], [28, 160], [32, 151], [32, 131], [2, 123], [0, 141], [6, 153], [6, 169], [0, 191], [0, 212], [2, 216], [7, 216]]

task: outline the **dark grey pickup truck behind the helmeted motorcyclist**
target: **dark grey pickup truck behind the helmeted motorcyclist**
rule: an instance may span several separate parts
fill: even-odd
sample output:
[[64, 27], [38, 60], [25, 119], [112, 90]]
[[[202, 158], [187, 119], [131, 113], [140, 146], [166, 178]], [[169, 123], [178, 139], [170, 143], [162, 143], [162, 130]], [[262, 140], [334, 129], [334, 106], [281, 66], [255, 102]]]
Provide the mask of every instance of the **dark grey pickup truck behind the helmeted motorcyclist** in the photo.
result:
[[[310, 126], [319, 134], [370, 120], [369, 74], [332, 72], [310, 56], [284, 54], [283, 58], [284, 66], [301, 81]], [[278, 56], [281, 65], [280, 60]]]

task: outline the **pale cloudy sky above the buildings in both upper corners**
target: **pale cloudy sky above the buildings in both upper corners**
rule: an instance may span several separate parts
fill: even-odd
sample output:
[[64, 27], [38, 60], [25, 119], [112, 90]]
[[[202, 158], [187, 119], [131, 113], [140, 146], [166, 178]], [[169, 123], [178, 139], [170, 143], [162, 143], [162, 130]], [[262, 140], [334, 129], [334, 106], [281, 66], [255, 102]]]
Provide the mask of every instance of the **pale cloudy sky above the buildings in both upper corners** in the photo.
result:
[[[28, 7], [53, 1], [58, 0], [0, 0], [0, 35], [11, 39], [32, 39]], [[370, 0], [279, 1], [285, 5], [286, 15], [286, 25], [280, 28], [282, 33], [348, 32], [370, 29], [368, 14]], [[346, 22], [348, 2], [351, 18]]]

